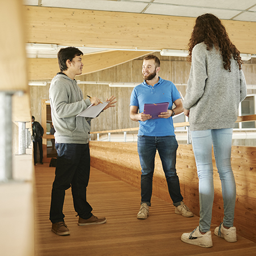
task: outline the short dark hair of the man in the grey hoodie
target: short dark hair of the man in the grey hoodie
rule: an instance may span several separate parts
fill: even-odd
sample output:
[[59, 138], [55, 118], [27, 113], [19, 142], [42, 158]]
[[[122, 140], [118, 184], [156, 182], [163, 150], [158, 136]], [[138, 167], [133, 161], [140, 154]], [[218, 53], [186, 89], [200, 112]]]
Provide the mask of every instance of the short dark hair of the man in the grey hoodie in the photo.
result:
[[61, 48], [57, 55], [60, 71], [63, 72], [68, 69], [66, 65], [67, 60], [72, 61], [76, 56], [81, 55], [84, 55], [84, 53], [82, 53], [80, 49], [76, 47]]

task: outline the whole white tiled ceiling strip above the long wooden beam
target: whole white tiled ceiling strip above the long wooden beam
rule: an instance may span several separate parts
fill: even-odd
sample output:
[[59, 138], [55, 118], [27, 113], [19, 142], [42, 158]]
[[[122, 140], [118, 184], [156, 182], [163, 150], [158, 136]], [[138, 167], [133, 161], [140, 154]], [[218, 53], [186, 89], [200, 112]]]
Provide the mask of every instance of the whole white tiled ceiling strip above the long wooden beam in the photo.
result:
[[23, 0], [24, 5], [121, 11], [196, 17], [212, 13], [220, 19], [256, 22], [256, 0]]

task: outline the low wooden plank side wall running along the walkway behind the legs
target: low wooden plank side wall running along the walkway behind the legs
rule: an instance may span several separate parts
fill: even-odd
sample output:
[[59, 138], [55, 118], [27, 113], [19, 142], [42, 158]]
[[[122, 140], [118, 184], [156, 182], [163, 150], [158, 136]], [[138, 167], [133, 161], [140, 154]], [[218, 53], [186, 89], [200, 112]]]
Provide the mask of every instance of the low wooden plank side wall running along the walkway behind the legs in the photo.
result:
[[[137, 143], [91, 141], [90, 155], [92, 167], [140, 188], [141, 166], [137, 153]], [[179, 145], [176, 168], [184, 202], [193, 213], [199, 216], [199, 181], [192, 145]], [[213, 168], [212, 223], [219, 225], [223, 218], [223, 200], [214, 156]], [[236, 226], [238, 234], [256, 242], [256, 148], [232, 147], [232, 168], [237, 184], [234, 226]], [[162, 163], [158, 155], [156, 155], [155, 160], [153, 193], [171, 203]]]

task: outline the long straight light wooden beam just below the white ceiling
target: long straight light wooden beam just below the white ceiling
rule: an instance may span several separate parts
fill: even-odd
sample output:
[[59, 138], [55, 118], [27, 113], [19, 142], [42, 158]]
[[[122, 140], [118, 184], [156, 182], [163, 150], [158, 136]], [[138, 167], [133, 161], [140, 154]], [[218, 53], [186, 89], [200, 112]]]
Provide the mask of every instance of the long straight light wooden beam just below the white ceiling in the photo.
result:
[[[195, 18], [25, 6], [27, 42], [129, 49], [187, 49]], [[256, 53], [255, 22], [223, 20], [242, 53]], [[68, 35], [68, 36], [67, 36]], [[155, 39], [158, 40], [155, 40]]]

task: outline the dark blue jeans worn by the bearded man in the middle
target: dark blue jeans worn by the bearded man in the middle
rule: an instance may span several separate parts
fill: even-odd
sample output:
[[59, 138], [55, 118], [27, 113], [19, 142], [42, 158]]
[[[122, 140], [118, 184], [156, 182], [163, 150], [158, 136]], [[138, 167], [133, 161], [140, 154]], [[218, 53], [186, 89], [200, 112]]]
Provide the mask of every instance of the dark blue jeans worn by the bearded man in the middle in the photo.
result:
[[175, 206], [180, 205], [183, 197], [180, 193], [179, 177], [176, 173], [177, 141], [175, 136], [138, 137], [138, 153], [141, 162], [141, 203], [151, 205], [152, 180], [155, 168], [155, 154], [158, 150], [166, 175], [168, 191]]

